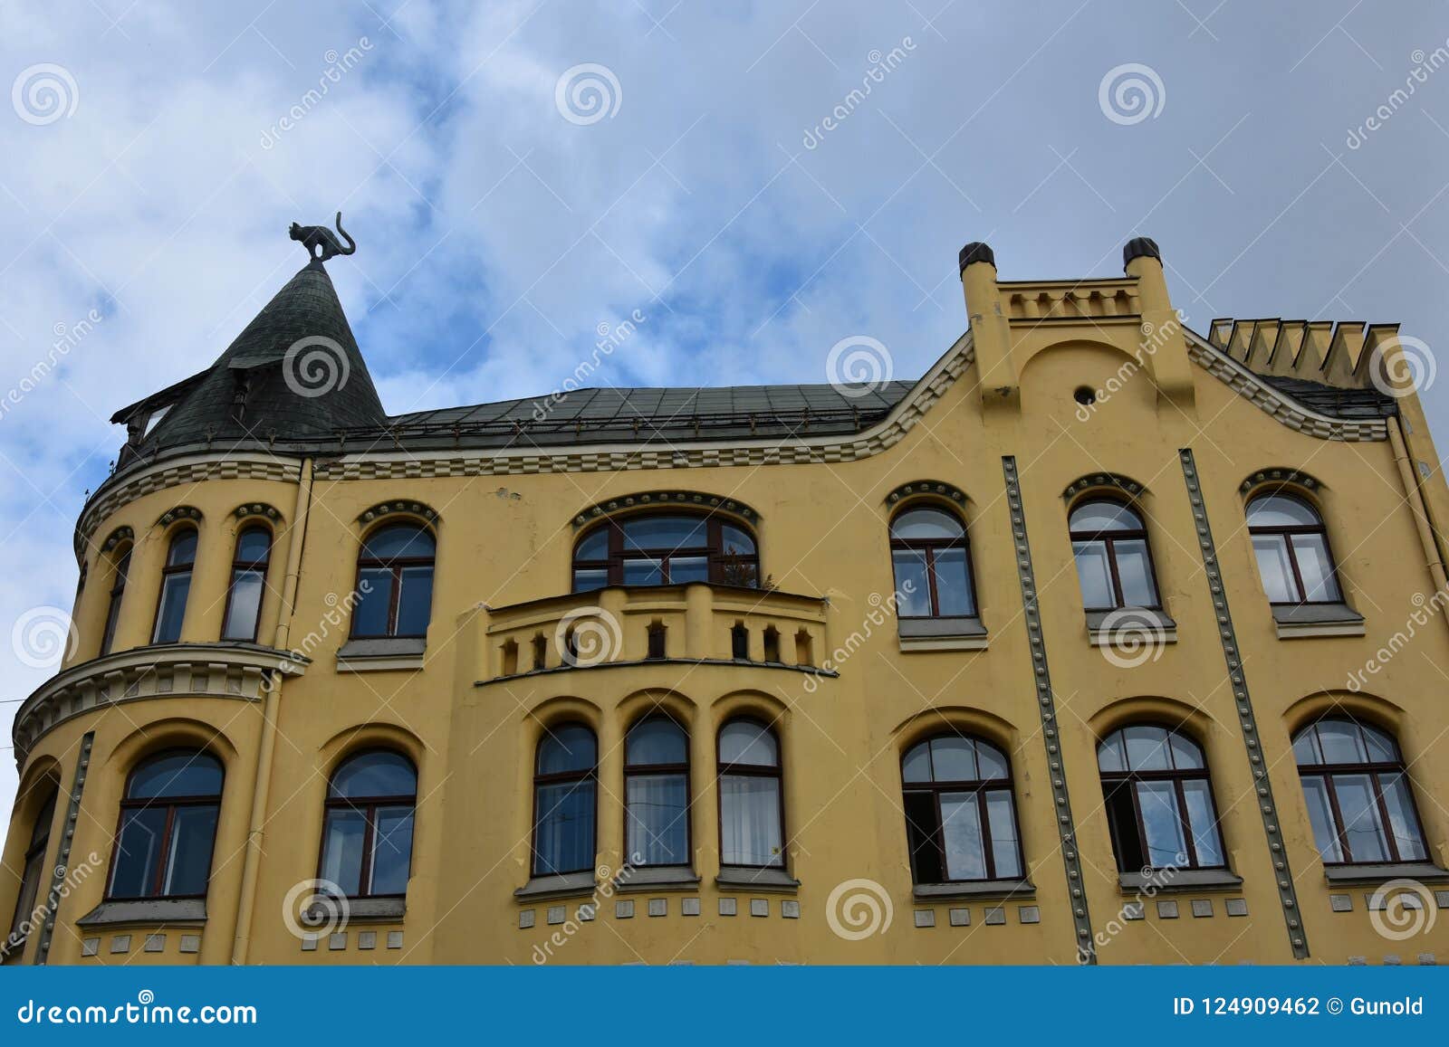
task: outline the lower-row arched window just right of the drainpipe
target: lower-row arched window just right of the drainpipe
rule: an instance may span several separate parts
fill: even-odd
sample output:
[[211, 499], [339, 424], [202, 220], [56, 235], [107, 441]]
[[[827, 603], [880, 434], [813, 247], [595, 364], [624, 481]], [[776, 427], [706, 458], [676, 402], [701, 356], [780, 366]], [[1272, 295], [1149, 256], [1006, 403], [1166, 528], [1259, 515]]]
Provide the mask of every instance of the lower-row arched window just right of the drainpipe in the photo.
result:
[[417, 770], [388, 749], [345, 759], [327, 782], [317, 876], [348, 898], [400, 898], [413, 863]]

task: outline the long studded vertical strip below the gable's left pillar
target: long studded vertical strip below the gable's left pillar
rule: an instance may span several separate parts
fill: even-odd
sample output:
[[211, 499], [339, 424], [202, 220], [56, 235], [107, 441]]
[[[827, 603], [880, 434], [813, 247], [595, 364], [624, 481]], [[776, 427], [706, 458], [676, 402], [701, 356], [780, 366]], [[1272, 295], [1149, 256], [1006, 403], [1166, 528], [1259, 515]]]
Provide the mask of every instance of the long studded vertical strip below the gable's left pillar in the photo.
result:
[[1052, 675], [1046, 666], [1046, 640], [1042, 636], [1042, 613], [1036, 602], [1036, 575], [1032, 571], [1032, 546], [1026, 540], [1026, 516], [1022, 511], [1022, 485], [1016, 474], [1016, 456], [1001, 459], [1006, 474], [1006, 500], [1011, 508], [1011, 542], [1016, 546], [1016, 573], [1022, 582], [1022, 605], [1026, 614], [1026, 636], [1032, 646], [1032, 675], [1036, 679], [1037, 712], [1042, 714], [1042, 740], [1046, 743], [1046, 763], [1052, 772], [1052, 807], [1056, 810], [1056, 831], [1062, 841], [1062, 865], [1072, 899], [1072, 924], [1077, 928], [1077, 959], [1097, 963], [1097, 944], [1087, 914], [1087, 892], [1082, 886], [1082, 863], [1077, 853], [1077, 825], [1066, 795], [1066, 773], [1062, 770], [1062, 746], [1056, 730], [1056, 698], [1052, 695]]

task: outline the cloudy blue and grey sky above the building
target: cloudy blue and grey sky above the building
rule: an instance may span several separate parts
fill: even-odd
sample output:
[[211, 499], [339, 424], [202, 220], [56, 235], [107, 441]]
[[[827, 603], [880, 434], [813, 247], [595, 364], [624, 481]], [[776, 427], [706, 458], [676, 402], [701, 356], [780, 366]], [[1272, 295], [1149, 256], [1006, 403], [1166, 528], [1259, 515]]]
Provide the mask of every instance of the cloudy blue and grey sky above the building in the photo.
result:
[[0, 0], [4, 83], [6, 743], [107, 419], [207, 366], [304, 264], [288, 223], [339, 210], [393, 414], [546, 394], [626, 319], [594, 384], [822, 382], [861, 337], [911, 379], [966, 326], [964, 243], [1081, 278], [1145, 235], [1198, 332], [1403, 323], [1449, 432], [1445, 3]]

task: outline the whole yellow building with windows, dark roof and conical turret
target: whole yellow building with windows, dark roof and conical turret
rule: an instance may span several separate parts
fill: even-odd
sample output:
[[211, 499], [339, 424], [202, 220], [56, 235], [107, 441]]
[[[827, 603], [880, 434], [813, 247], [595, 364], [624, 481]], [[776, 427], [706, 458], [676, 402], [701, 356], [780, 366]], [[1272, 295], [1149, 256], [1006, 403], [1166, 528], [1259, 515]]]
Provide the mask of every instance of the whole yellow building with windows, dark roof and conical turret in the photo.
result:
[[7, 962], [1449, 953], [1411, 340], [1124, 259], [968, 245], [914, 382], [400, 417], [310, 262], [114, 419]]

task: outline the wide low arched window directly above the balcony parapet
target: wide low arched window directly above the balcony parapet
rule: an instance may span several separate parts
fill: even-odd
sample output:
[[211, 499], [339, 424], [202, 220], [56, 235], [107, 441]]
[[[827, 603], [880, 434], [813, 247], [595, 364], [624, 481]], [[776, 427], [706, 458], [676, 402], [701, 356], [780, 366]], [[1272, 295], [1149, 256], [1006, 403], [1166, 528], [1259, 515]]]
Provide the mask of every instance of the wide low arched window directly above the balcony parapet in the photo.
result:
[[574, 592], [606, 585], [759, 585], [753, 536], [717, 516], [606, 520], [574, 546]]

